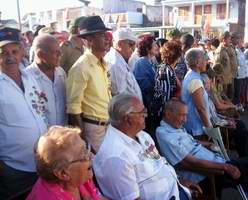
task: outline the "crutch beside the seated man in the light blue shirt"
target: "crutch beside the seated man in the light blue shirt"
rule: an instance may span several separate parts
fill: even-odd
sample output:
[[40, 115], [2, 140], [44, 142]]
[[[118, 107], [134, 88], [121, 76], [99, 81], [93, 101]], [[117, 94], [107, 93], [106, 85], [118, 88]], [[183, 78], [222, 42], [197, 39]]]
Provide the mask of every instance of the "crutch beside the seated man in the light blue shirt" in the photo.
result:
[[[223, 156], [223, 158], [225, 158], [227, 161], [229, 161], [230, 158], [227, 155], [227, 152], [226, 152], [223, 140], [222, 140], [220, 128], [219, 127], [216, 127], [216, 128], [203, 127], [203, 130], [213, 140], [214, 144], [216, 144], [220, 147], [220, 154]], [[242, 199], [248, 200], [248, 198], [244, 192], [244, 189], [242, 188], [242, 186], [240, 184], [237, 185], [237, 189], [238, 189]]]

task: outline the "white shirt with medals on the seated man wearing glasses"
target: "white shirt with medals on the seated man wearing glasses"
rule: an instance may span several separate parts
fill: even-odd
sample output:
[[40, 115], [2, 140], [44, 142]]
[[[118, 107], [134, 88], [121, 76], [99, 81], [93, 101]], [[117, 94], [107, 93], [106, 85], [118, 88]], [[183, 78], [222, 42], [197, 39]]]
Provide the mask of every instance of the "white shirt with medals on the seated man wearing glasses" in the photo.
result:
[[[103, 194], [110, 199], [179, 200], [177, 175], [144, 131], [139, 142], [108, 127], [93, 167]], [[173, 197], [174, 196], [174, 197]]]

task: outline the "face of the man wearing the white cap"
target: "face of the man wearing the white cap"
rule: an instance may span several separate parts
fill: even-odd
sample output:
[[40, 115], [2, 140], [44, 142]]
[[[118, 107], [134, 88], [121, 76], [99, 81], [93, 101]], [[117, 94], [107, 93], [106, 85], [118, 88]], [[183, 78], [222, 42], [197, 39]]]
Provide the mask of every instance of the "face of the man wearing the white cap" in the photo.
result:
[[122, 40], [118, 42], [118, 46], [122, 57], [128, 61], [135, 49], [135, 42], [131, 40]]

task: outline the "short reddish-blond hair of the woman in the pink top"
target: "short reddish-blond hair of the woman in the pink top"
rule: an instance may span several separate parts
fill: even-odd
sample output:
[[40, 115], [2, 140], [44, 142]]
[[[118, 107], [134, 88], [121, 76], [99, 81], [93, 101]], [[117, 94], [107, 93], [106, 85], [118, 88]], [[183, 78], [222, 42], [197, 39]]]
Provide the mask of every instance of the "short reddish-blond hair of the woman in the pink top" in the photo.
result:
[[[35, 161], [37, 173], [49, 182], [59, 182], [54, 170], [63, 169], [75, 155], [72, 152], [78, 146], [75, 142], [80, 138], [79, 128], [51, 126], [35, 145]], [[83, 143], [82, 156], [87, 160], [88, 151]]]

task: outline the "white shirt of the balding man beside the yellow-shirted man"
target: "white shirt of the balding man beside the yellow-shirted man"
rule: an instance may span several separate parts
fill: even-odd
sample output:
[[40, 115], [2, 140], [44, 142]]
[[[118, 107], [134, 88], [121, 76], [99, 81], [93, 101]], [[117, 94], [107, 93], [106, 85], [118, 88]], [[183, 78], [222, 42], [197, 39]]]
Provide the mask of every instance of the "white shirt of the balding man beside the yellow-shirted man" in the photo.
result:
[[66, 74], [61, 67], [56, 67], [54, 81], [51, 81], [37, 66], [35, 62], [26, 69], [38, 82], [40, 88], [47, 95], [48, 124], [65, 125], [65, 78]]

